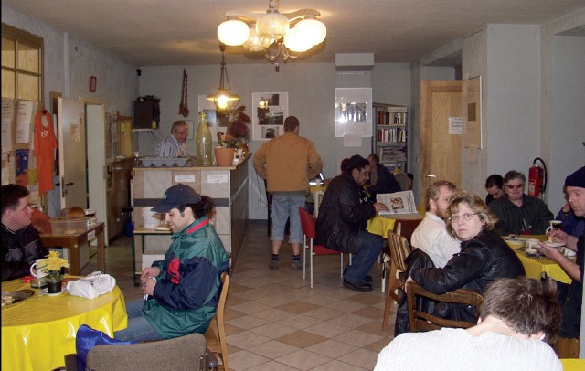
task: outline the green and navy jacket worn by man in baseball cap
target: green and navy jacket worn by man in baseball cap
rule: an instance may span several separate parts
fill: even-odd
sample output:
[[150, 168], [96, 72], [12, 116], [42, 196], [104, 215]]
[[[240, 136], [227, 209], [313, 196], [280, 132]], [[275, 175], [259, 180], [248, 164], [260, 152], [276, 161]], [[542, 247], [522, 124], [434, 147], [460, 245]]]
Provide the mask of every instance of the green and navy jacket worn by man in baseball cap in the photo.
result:
[[207, 331], [216, 313], [220, 276], [229, 259], [215, 228], [203, 217], [173, 235], [143, 314], [165, 338]]

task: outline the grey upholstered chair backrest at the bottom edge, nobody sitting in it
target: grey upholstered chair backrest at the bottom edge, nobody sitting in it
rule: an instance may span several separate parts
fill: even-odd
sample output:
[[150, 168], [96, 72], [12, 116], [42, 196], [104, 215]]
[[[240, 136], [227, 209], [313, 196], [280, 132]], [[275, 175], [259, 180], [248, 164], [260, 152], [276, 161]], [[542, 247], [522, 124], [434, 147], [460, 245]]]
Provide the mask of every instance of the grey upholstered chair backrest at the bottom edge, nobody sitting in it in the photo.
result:
[[200, 369], [205, 354], [205, 337], [188, 334], [173, 339], [133, 345], [97, 345], [88, 353], [87, 366], [96, 371], [138, 369]]

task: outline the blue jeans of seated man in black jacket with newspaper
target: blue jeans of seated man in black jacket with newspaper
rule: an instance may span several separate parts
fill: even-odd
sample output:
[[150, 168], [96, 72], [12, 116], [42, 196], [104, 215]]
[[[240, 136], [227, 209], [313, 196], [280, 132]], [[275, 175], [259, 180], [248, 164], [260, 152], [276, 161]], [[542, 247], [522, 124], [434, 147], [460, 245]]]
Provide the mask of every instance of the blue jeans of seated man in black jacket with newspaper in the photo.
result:
[[352, 259], [352, 263], [347, 267], [344, 278], [352, 284], [359, 284], [367, 276], [369, 270], [378, 260], [378, 256], [382, 250], [384, 239], [378, 235], [367, 232], [367, 230], [360, 230], [357, 235], [359, 243], [357, 245], [357, 253]]

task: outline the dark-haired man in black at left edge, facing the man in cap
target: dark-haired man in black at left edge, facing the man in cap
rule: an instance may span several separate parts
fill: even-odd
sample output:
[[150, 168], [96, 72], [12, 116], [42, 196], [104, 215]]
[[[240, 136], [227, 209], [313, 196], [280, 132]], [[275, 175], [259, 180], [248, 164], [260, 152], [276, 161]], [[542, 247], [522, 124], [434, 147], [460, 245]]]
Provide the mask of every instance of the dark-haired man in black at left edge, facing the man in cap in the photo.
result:
[[35, 260], [48, 254], [30, 224], [33, 212], [28, 195], [22, 185], [2, 185], [2, 281], [30, 274]]

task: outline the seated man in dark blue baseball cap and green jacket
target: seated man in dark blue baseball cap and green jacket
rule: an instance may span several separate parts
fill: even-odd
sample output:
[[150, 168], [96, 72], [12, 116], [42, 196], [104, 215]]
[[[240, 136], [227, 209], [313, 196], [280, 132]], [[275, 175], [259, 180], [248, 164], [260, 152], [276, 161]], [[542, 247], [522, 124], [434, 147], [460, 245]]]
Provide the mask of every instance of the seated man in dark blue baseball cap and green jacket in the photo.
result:
[[205, 334], [216, 313], [220, 277], [229, 258], [209, 224], [214, 205], [188, 185], [173, 185], [153, 211], [165, 213], [173, 243], [165, 260], [154, 261], [140, 276], [145, 302], [126, 307], [128, 327], [114, 333], [122, 341], [162, 340]]

